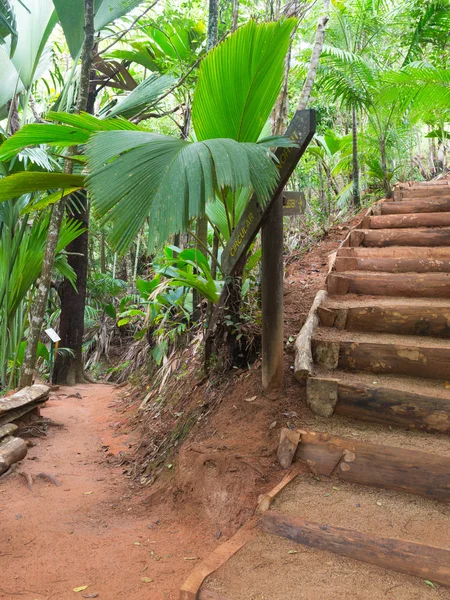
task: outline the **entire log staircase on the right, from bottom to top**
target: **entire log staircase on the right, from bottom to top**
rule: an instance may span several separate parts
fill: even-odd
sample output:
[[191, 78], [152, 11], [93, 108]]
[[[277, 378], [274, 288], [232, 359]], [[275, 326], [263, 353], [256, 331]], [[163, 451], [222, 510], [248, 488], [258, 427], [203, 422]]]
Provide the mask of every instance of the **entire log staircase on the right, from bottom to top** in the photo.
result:
[[[316, 295], [295, 343], [294, 375], [306, 381], [306, 401], [317, 415], [303, 415], [302, 427], [312, 422], [320, 431], [281, 430], [278, 461], [291, 470], [274, 488], [280, 493], [274, 510], [261, 502], [258, 528], [266, 537], [258, 538], [257, 551], [247, 550], [248, 568], [245, 559], [236, 559], [237, 567], [231, 559], [219, 581], [240, 573], [245, 598], [250, 590], [252, 598], [272, 598], [270, 590], [276, 600], [300, 598], [300, 588], [302, 598], [314, 599], [378, 600], [391, 590], [389, 597], [401, 600], [434, 597], [427, 586], [450, 598], [449, 182], [402, 185], [394, 202], [375, 205], [337, 251], [326, 288]], [[326, 493], [317, 492], [318, 482], [328, 483]], [[345, 505], [342, 485], [352, 486]], [[369, 525], [360, 519], [358, 526], [361, 494], [370, 488], [377, 490], [380, 513], [374, 519], [373, 497], [362, 496]], [[394, 498], [393, 492], [400, 493]], [[313, 503], [305, 501], [308, 495]], [[415, 535], [402, 526], [403, 514]], [[380, 536], [383, 526], [386, 537]], [[433, 527], [443, 533], [438, 545], [429, 535]], [[308, 553], [289, 562], [287, 555], [297, 551], [274, 545], [275, 538], [306, 546]], [[315, 562], [313, 553], [323, 551], [328, 554]], [[330, 553], [354, 561], [336, 562]], [[269, 565], [265, 573], [259, 562], [254, 565], [260, 555]], [[355, 589], [346, 579], [358, 577], [361, 562], [382, 569], [363, 570]], [[284, 576], [268, 592], [260, 580], [270, 581], [278, 571]], [[336, 572], [340, 577], [332, 579]], [[391, 581], [393, 572], [413, 577]], [[231, 596], [205, 588], [198, 598]]]

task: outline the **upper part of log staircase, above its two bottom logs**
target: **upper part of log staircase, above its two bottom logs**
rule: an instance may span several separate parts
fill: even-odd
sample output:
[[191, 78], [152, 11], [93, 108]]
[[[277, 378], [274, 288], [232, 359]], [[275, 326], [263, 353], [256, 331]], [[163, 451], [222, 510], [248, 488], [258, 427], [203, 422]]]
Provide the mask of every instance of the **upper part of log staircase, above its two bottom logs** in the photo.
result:
[[322, 416], [450, 431], [450, 186], [400, 189], [337, 251], [312, 338]]

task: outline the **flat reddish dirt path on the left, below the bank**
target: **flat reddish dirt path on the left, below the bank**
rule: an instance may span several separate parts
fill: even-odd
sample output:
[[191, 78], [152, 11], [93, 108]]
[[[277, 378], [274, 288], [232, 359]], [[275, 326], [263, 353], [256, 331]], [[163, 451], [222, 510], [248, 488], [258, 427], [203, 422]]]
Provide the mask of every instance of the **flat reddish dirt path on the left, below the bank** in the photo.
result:
[[[68, 397], [77, 393], [81, 399]], [[200, 524], [152, 506], [148, 492], [131, 490], [108, 463], [102, 445], [117, 454], [127, 441], [113, 437], [115, 393], [107, 385], [61, 388], [42, 410], [64, 429], [36, 440], [23, 468], [61, 486], [35, 478], [31, 492], [20, 475], [0, 482], [1, 599], [175, 599], [194, 559], [217, 543]]]

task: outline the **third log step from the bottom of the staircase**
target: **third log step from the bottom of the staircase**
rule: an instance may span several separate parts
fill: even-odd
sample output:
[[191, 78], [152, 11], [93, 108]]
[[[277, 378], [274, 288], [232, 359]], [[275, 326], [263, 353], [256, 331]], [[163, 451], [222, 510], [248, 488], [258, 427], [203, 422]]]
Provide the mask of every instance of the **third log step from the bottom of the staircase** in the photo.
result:
[[[426, 380], [395, 378], [400, 380], [395, 384], [395, 379], [387, 376], [377, 375], [376, 383], [373, 375], [363, 379], [361, 375], [349, 378], [344, 372], [333, 373], [332, 377], [311, 377], [307, 383], [307, 404], [321, 417], [337, 414], [389, 427], [450, 432], [450, 392], [445, 388], [433, 395]], [[408, 391], [408, 384], [410, 389], [414, 385], [414, 392]]]

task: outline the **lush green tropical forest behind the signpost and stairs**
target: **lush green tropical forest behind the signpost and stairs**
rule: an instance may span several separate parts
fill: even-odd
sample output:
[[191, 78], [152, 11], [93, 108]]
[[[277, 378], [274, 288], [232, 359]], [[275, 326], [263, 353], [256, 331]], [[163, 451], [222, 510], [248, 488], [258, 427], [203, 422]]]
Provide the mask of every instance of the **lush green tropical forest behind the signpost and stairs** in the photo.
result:
[[224, 286], [251, 361], [260, 241], [234, 282], [220, 259], [287, 123], [316, 110], [288, 252], [445, 171], [449, 25], [447, 0], [0, 0], [0, 389], [151, 375]]

